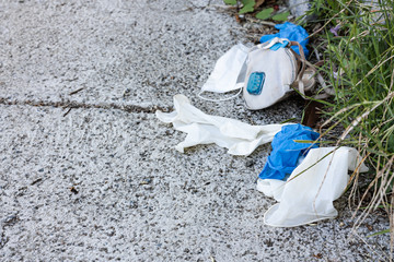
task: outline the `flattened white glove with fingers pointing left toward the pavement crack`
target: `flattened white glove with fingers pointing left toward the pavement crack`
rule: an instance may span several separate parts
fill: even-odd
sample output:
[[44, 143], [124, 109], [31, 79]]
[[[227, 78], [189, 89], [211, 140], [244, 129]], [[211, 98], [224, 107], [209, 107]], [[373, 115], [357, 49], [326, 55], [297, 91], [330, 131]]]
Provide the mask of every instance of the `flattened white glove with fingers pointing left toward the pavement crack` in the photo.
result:
[[174, 96], [173, 112], [157, 111], [159, 120], [172, 123], [176, 130], [186, 132], [185, 141], [175, 146], [184, 148], [198, 144], [217, 144], [228, 148], [232, 155], [250, 155], [262, 144], [273, 141], [285, 124], [251, 126], [235, 119], [207, 115], [184, 95]]

